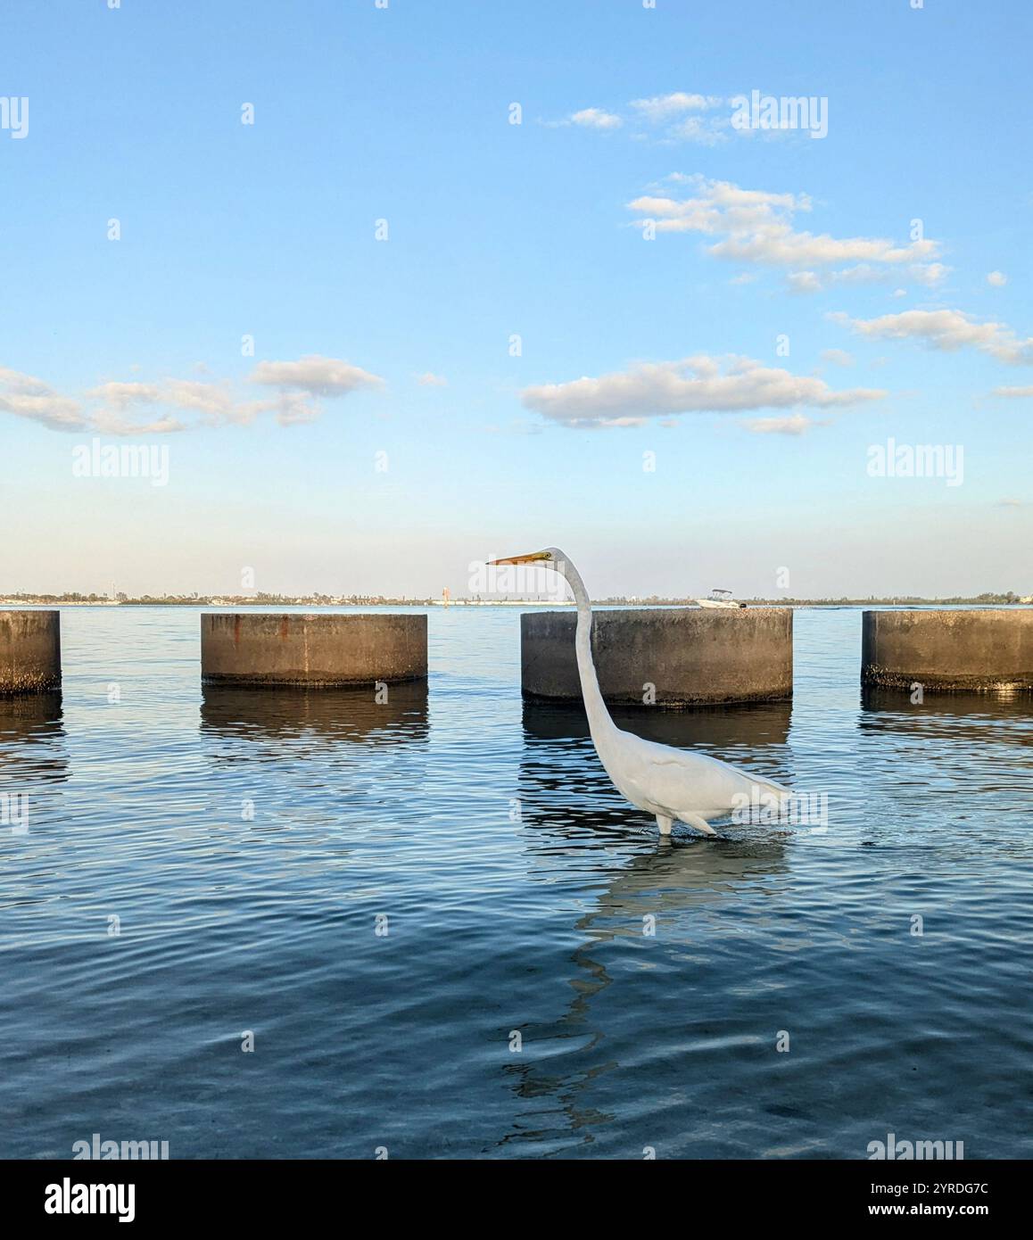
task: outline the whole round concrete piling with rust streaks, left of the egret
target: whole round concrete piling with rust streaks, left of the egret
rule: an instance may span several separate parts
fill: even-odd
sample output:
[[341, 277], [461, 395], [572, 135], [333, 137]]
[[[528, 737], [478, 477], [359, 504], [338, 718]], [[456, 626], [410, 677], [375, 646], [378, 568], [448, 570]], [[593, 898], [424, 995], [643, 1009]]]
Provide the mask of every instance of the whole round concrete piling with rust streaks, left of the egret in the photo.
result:
[[205, 684], [329, 688], [425, 677], [425, 615], [201, 616]]

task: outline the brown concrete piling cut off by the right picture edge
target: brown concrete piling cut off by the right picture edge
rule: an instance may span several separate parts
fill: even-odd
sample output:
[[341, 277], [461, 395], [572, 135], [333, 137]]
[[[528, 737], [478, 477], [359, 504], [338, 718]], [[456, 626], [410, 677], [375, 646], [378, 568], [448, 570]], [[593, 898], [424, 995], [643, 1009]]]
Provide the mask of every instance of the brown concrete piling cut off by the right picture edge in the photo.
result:
[[861, 680], [929, 693], [1033, 691], [1033, 611], [866, 611]]

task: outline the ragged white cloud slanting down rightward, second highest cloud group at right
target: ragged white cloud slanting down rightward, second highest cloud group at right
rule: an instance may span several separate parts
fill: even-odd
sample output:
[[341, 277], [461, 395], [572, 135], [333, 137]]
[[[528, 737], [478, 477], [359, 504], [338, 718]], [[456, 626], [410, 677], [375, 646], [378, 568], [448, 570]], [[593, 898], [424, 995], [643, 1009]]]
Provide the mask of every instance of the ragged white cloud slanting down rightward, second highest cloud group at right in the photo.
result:
[[814, 275], [814, 268], [836, 263], [862, 264], [835, 273], [832, 278], [837, 280], [879, 278], [883, 270], [894, 268], [907, 268], [925, 283], [936, 283], [946, 274], [941, 263], [933, 262], [939, 242], [931, 239], [898, 246], [878, 237], [832, 237], [797, 231], [795, 217], [812, 210], [805, 193], [743, 190], [730, 181], [699, 176], [671, 180], [691, 185], [689, 196], [675, 198], [658, 193], [635, 198], [629, 208], [642, 217], [636, 223], [644, 226], [651, 221], [657, 233], [696, 232], [714, 237], [707, 252], [716, 258], [791, 267], [801, 275]]

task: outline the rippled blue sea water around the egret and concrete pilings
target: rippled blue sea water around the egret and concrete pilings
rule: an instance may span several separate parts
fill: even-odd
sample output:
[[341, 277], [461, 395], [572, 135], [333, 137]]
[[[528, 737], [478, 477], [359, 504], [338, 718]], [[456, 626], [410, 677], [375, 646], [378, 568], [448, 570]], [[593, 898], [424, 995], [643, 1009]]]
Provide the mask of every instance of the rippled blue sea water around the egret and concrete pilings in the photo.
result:
[[1028, 1157], [1029, 699], [862, 703], [861, 613], [795, 622], [791, 707], [619, 722], [827, 832], [662, 841], [522, 706], [515, 608], [432, 609], [387, 706], [202, 694], [197, 610], [64, 610], [63, 696], [0, 702], [0, 1154]]

